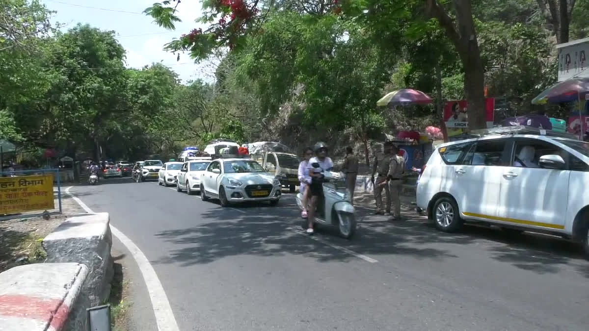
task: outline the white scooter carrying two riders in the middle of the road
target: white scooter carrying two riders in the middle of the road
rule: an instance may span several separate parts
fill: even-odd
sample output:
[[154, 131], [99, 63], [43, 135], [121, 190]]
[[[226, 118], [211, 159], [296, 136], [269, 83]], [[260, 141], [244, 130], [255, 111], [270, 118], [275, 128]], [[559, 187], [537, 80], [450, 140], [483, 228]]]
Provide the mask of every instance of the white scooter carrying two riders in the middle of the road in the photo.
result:
[[[314, 224], [335, 226], [340, 237], [352, 239], [356, 233], [357, 222], [345, 179], [340, 174], [330, 171], [325, 171], [323, 176], [323, 195], [317, 203]], [[302, 201], [303, 194], [298, 193], [296, 203], [299, 210], [303, 210]]]

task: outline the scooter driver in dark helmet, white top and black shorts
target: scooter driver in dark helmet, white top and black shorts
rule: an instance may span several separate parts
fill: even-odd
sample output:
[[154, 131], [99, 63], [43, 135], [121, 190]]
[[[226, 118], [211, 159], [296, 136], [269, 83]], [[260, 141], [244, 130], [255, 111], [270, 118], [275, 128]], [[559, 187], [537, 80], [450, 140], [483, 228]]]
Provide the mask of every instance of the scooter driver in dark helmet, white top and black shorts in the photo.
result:
[[333, 161], [331, 158], [327, 157], [327, 145], [325, 143], [321, 141], [316, 143], [313, 150], [315, 151], [316, 156], [309, 160], [308, 166], [309, 174], [312, 177], [311, 184], [309, 185], [311, 204], [309, 210], [307, 210], [309, 221], [309, 227], [307, 228], [308, 234], [313, 234], [313, 221], [315, 221], [317, 202], [319, 201], [319, 197], [323, 194], [323, 183], [321, 181], [323, 178], [323, 171], [330, 171], [333, 168]]

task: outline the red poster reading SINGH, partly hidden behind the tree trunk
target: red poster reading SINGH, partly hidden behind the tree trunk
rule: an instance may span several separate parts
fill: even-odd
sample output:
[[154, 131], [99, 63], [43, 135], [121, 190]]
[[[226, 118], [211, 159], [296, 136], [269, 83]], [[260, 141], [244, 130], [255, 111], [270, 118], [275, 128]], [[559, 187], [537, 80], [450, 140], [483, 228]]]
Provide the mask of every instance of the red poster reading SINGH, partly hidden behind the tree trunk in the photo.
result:
[[[485, 111], [487, 127], [493, 127], [495, 98], [485, 99]], [[454, 137], [468, 133], [468, 104], [466, 100], [453, 100], [446, 102], [444, 108], [444, 122], [448, 137]]]

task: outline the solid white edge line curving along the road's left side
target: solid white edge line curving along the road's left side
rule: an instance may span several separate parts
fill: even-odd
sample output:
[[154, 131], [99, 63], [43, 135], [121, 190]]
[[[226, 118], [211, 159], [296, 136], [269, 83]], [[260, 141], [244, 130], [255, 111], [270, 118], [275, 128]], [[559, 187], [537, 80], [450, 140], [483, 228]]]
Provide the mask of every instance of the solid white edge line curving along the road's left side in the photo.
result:
[[[70, 188], [72, 187], [70, 186], [66, 188], [65, 193], [70, 195], [87, 213], [94, 213], [94, 211], [86, 206], [82, 200], [70, 193]], [[116, 227], [112, 226], [112, 224], [110, 227], [112, 234], [114, 234], [115, 237], [117, 237], [117, 239], [120, 240], [131, 252], [135, 262], [137, 262], [141, 275], [143, 275], [143, 280], [145, 281], [151, 299], [155, 322], [157, 322], [157, 329], [160, 331], [179, 331], [180, 329], [178, 329], [174, 312], [172, 311], [164, 287], [161, 285], [160, 279], [158, 279], [153, 266], [151, 266], [151, 263], [149, 263], [145, 254], [143, 254], [143, 251], [141, 251], [131, 239], [125, 236]]]

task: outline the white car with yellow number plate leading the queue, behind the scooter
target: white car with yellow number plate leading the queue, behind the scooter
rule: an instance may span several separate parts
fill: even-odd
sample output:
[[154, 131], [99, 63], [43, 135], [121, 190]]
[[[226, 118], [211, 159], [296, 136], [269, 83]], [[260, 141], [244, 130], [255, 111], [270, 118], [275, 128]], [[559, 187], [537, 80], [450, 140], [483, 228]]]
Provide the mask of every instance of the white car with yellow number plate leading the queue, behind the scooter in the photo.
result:
[[281, 193], [278, 178], [249, 158], [213, 160], [200, 180], [200, 197], [219, 198], [223, 207], [243, 201], [270, 201], [275, 206]]

